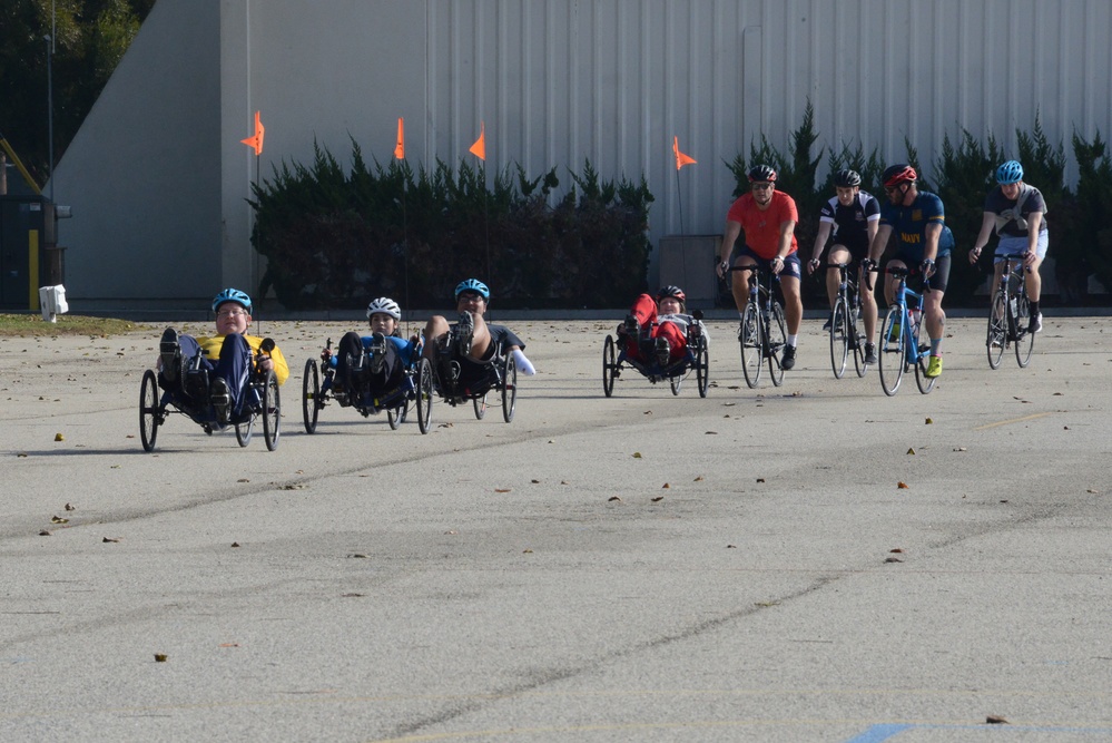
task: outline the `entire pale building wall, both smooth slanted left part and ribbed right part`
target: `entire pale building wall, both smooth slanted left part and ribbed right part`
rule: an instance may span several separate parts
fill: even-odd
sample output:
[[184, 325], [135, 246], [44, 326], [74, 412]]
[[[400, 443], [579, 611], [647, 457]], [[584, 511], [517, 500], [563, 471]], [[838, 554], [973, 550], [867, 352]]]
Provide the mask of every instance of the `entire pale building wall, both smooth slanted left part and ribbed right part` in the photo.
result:
[[[397, 117], [411, 165], [455, 164], [485, 120], [489, 172], [643, 175], [656, 242], [719, 232], [725, 163], [761, 134], [786, 153], [808, 100], [818, 146], [889, 162], [907, 138], [933, 165], [963, 129], [1013, 150], [1036, 113], [1072, 155], [1112, 131], [1109, 28], [1108, 0], [159, 0], [57, 170], [68, 289], [257, 285], [255, 110], [264, 179], [314, 140], [385, 163]], [[678, 178], [672, 136], [699, 160]]]

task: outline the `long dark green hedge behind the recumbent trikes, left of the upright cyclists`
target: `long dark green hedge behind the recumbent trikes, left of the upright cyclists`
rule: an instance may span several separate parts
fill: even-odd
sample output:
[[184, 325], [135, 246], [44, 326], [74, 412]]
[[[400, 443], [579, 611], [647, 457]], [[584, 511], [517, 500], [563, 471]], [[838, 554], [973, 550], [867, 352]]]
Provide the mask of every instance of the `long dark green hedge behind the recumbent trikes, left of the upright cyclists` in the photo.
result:
[[254, 188], [252, 242], [267, 257], [259, 287], [288, 309], [355, 307], [390, 295], [441, 306], [468, 276], [501, 306], [623, 306], [646, 289], [649, 204], [642, 179], [608, 182], [588, 162], [554, 206], [555, 168], [529, 179], [437, 160], [368, 166], [352, 143], [345, 175], [315, 146], [312, 167], [287, 165]]

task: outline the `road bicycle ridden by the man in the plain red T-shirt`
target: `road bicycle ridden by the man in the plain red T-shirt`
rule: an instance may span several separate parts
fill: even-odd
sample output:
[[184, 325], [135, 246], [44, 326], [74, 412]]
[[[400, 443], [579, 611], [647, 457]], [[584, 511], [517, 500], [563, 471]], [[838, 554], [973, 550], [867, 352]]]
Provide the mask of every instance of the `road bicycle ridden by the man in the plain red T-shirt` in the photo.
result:
[[[730, 271], [749, 272], [749, 301], [741, 313], [738, 327], [738, 345], [741, 348], [741, 371], [750, 389], [757, 387], [760, 368], [768, 359], [768, 373], [773, 384], [784, 383], [784, 368], [780, 365], [780, 351], [787, 345], [784, 307], [775, 299], [773, 282], [779, 282], [778, 274], [762, 266], [731, 266]], [[761, 285], [765, 280], [765, 285]]]

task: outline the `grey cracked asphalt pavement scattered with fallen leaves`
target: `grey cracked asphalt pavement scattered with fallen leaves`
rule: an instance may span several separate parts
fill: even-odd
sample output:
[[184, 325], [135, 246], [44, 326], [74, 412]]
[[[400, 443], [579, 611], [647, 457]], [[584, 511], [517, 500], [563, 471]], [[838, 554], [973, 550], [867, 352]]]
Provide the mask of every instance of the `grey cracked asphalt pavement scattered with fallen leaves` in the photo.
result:
[[270, 322], [275, 452], [183, 417], [141, 450], [160, 326], [0, 338], [0, 740], [1112, 739], [1112, 319], [996, 371], [955, 319], [892, 398], [820, 324], [783, 387], [719, 320], [706, 399], [607, 399], [613, 321], [518, 321], [512, 423], [311, 436], [350, 327]]

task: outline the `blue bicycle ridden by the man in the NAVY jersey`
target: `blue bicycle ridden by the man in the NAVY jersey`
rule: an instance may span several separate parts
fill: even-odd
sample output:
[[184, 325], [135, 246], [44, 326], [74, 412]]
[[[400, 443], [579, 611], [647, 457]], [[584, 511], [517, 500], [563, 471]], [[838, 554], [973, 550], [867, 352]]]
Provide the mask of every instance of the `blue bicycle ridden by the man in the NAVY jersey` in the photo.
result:
[[908, 268], [887, 268], [887, 273], [898, 278], [895, 301], [880, 326], [877, 368], [880, 372], [880, 388], [889, 398], [899, 389], [904, 372], [915, 368], [915, 382], [919, 392], [928, 394], [934, 389], [934, 378], [926, 375], [931, 354], [929, 344], [919, 343], [919, 327], [923, 319], [923, 296], [931, 291], [924, 282], [923, 294], [907, 287]]

